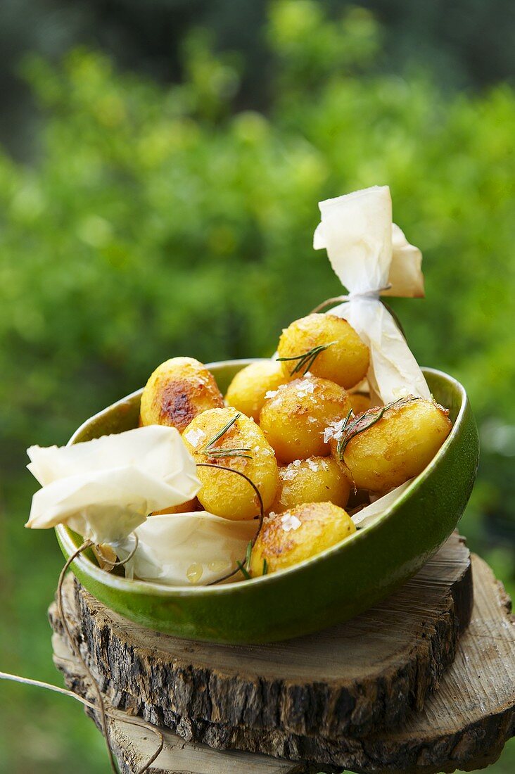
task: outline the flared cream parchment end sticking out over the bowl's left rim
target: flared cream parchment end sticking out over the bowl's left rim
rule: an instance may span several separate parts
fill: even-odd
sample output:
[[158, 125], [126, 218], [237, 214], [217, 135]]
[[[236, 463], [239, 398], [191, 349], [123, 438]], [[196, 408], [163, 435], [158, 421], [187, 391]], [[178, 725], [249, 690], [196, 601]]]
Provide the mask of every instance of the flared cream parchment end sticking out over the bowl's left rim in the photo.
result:
[[173, 427], [139, 427], [69, 447], [30, 447], [29, 471], [43, 488], [27, 527], [67, 524], [93, 543], [116, 546], [156, 510], [200, 489], [197, 469]]

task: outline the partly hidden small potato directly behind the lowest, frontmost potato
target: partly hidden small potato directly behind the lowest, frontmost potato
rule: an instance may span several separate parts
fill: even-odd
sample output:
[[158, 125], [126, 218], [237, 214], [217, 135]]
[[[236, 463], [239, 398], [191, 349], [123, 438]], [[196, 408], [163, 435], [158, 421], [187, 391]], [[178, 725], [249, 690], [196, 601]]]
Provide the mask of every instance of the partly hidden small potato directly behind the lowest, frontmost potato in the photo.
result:
[[342, 465], [331, 457], [294, 460], [279, 468], [279, 486], [271, 510], [282, 513], [304, 502], [332, 502], [345, 508], [350, 488]]

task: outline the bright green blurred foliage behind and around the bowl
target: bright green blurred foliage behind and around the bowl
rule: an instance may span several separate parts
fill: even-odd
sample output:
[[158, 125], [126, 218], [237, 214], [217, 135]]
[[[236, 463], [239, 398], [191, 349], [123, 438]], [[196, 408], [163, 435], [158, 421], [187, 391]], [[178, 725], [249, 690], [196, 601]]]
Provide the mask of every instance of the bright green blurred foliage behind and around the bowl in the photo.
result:
[[[376, 183], [424, 253], [427, 300], [393, 305], [418, 360], [465, 383], [482, 430], [462, 530], [513, 591], [515, 94], [448, 94], [415, 64], [383, 72], [381, 38], [365, 9], [329, 19], [312, 0], [274, 3], [266, 115], [235, 109], [241, 60], [202, 30], [170, 87], [91, 50], [26, 60], [39, 160], [0, 155], [2, 666], [55, 680], [43, 611], [60, 558], [53, 536], [21, 529], [26, 446], [63, 444], [173, 355], [273, 351], [281, 327], [339, 291], [311, 246], [318, 200]], [[104, 770], [76, 708], [7, 695], [0, 726], [24, 731], [0, 771]], [[508, 748], [495, 771], [512, 766]]]

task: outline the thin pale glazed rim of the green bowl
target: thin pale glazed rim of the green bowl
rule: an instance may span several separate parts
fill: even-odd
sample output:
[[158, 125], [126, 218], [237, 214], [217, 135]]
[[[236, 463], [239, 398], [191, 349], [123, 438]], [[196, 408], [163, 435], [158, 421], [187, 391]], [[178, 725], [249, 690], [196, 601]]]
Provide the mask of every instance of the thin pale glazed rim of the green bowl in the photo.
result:
[[[242, 359], [233, 359], [233, 360], [223, 360], [223, 361], [214, 361], [211, 363], [206, 363], [206, 368], [212, 368], [213, 366], [232, 366], [232, 365], [242, 365], [242, 367], [245, 367], [245, 365], [249, 365], [250, 363], [259, 361], [259, 360], [268, 360], [270, 358], [242, 358]], [[444, 378], [445, 381], [450, 382], [451, 385], [453, 385], [454, 389], [458, 392], [461, 403], [458, 409], [458, 415], [456, 416], [455, 423], [452, 426], [451, 432], [448, 434], [448, 437], [445, 439], [444, 443], [441, 445], [438, 452], [434, 455], [433, 459], [429, 464], [427, 464], [426, 467], [424, 467], [424, 470], [421, 471], [420, 474], [418, 474], [415, 478], [412, 478], [410, 481], [410, 484], [405, 488], [402, 492], [400, 492], [399, 497], [390, 505], [389, 508], [386, 509], [385, 512], [383, 512], [381, 515], [378, 515], [376, 519], [371, 522], [369, 525], [362, 527], [362, 529], [357, 529], [352, 535], [346, 537], [343, 540], [340, 540], [339, 543], [335, 543], [333, 546], [329, 546], [328, 548], [324, 549], [320, 553], [315, 554], [313, 557], [308, 557], [305, 560], [302, 560], [301, 562], [292, 565], [292, 567], [287, 567], [284, 570], [280, 570], [280, 572], [277, 573], [271, 573], [270, 575], [260, 575], [258, 577], [250, 578], [250, 580], [236, 580], [232, 581], [231, 583], [225, 583], [220, 585], [213, 585], [213, 586], [202, 586], [202, 585], [181, 585], [181, 586], [170, 586], [167, 584], [160, 584], [154, 580], [136, 580], [134, 578], [126, 578], [119, 575], [112, 575], [111, 573], [105, 572], [105, 570], [101, 570], [100, 567], [98, 567], [96, 564], [94, 564], [88, 557], [85, 557], [84, 555], [81, 555], [77, 557], [77, 559], [74, 560], [74, 563], [77, 563], [77, 566], [81, 568], [81, 570], [88, 574], [89, 577], [91, 577], [93, 580], [98, 581], [98, 583], [107, 585], [111, 587], [112, 589], [116, 591], [122, 591], [122, 592], [141, 592], [143, 594], [151, 594], [153, 596], [158, 597], [202, 597], [202, 596], [208, 596], [212, 594], [232, 594], [236, 589], [242, 590], [242, 588], [249, 587], [249, 584], [256, 585], [259, 583], [274, 583], [277, 582], [280, 577], [283, 577], [285, 574], [290, 574], [293, 572], [296, 572], [299, 570], [299, 568], [304, 568], [307, 566], [311, 566], [314, 563], [321, 562], [324, 560], [325, 557], [332, 556], [334, 553], [337, 553], [339, 550], [342, 550], [342, 546], [352, 545], [352, 543], [355, 543], [355, 541], [363, 539], [363, 536], [367, 533], [373, 531], [374, 529], [378, 529], [379, 525], [387, 519], [393, 509], [397, 509], [407, 498], [408, 495], [413, 494], [414, 491], [417, 490], [421, 486], [421, 483], [427, 478], [429, 474], [433, 471], [434, 467], [436, 467], [441, 460], [441, 457], [445, 455], [446, 450], [448, 449], [449, 444], [451, 444], [453, 438], [458, 433], [458, 429], [462, 424], [463, 417], [465, 416], [465, 410], [467, 408], [468, 404], [468, 396], [465, 391], [465, 387], [461, 384], [461, 382], [458, 382], [458, 379], [454, 378], [454, 376], [451, 376], [444, 371], [440, 371], [438, 368], [422, 368], [422, 371], [427, 374], [431, 374], [437, 377]], [[67, 446], [70, 446], [74, 444], [75, 439], [80, 435], [80, 433], [90, 425], [90, 423], [93, 420], [100, 419], [102, 416], [105, 416], [105, 414], [112, 411], [112, 409], [115, 409], [117, 406], [122, 406], [123, 404], [127, 403], [129, 400], [132, 400], [133, 398], [136, 398], [137, 396], [140, 396], [142, 394], [142, 388], [136, 390], [135, 392], [131, 392], [128, 396], [125, 396], [124, 398], [121, 398], [114, 403], [112, 403], [111, 406], [107, 406], [105, 409], [101, 409], [98, 413], [94, 414], [93, 416], [90, 416], [87, 420], [85, 420], [81, 426], [77, 427], [77, 430], [73, 433], [73, 435], [70, 437], [70, 440], [67, 443]], [[55, 531], [57, 533], [57, 539], [66, 553], [67, 557], [70, 557], [72, 553], [74, 553], [75, 550], [77, 550], [77, 545], [74, 543], [73, 538], [70, 535], [70, 528], [66, 524], [58, 524], [55, 527]]]

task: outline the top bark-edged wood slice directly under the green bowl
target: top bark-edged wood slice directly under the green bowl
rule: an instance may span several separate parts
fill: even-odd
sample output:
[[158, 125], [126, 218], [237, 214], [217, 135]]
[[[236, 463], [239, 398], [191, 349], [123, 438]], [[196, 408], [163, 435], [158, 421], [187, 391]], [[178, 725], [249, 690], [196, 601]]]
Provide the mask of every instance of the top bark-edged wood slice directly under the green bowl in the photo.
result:
[[[454, 534], [376, 608], [264, 646], [151, 632], [105, 608], [71, 577], [65, 593], [94, 673], [146, 704], [160, 724], [223, 746], [227, 728], [334, 739], [392, 728], [421, 710], [469, 623], [472, 576], [469, 550]], [[57, 627], [54, 611], [51, 617]]]

